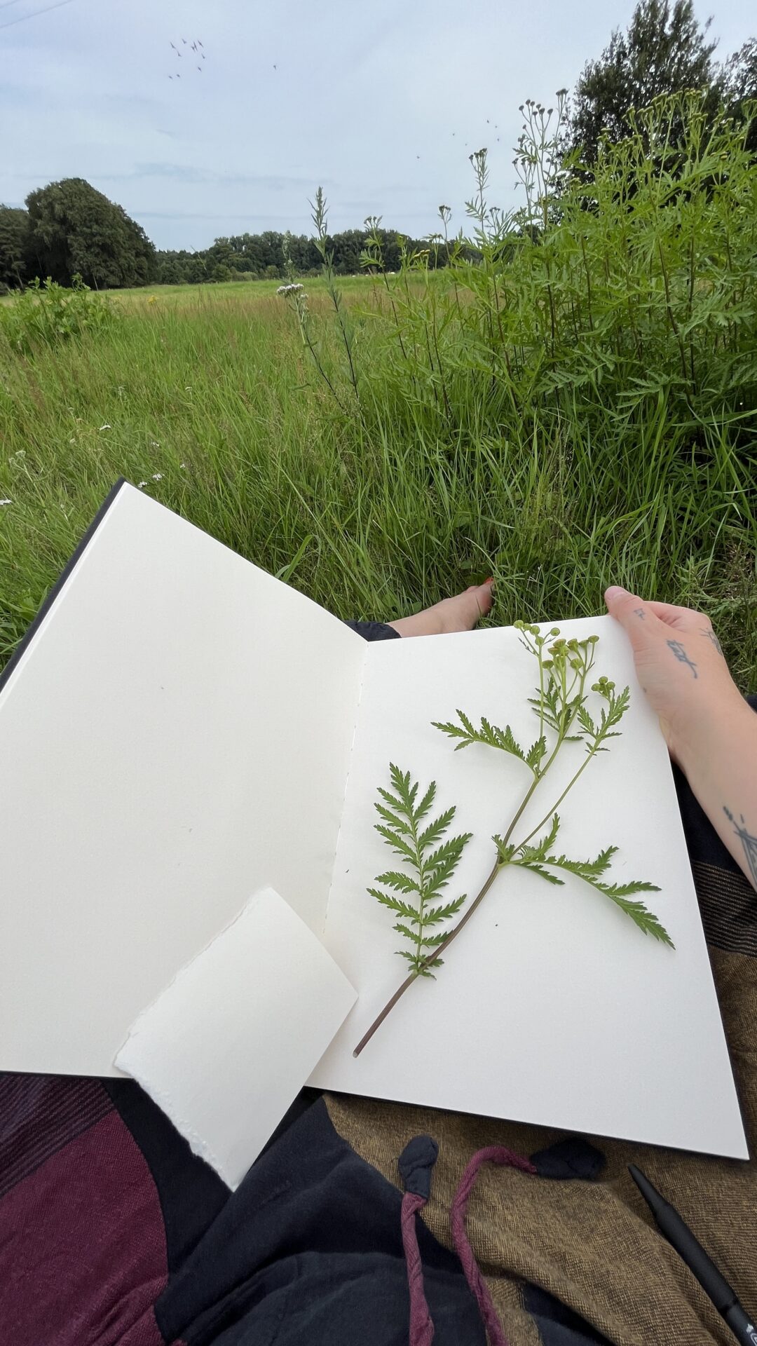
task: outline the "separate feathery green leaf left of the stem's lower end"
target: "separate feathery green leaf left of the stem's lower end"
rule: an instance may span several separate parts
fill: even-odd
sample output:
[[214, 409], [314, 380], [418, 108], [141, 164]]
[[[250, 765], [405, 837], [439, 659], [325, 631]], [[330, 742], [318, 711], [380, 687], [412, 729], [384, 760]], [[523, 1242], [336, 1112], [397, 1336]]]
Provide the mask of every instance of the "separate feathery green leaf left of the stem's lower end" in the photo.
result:
[[395, 930], [411, 945], [411, 949], [397, 950], [400, 957], [411, 964], [416, 976], [432, 977], [431, 968], [440, 966], [442, 960], [430, 964], [426, 960], [446, 937], [445, 922], [455, 917], [466, 900], [465, 892], [447, 900], [443, 890], [471, 833], [443, 840], [455, 809], [428, 817], [436, 797], [435, 781], [419, 801], [419, 783], [411, 781], [409, 771], [400, 771], [392, 762], [389, 779], [393, 793], [378, 787], [381, 800], [374, 808], [381, 822], [376, 824], [376, 830], [400, 857], [403, 868], [377, 875], [376, 883], [381, 887], [368, 891], [395, 914]]

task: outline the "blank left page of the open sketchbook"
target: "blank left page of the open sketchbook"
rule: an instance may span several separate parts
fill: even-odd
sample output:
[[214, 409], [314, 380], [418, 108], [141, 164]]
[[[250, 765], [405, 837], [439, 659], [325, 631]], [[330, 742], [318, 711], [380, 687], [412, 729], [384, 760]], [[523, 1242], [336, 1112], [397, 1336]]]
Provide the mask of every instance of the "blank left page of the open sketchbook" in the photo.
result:
[[364, 654], [121, 487], [0, 693], [0, 1069], [117, 1073], [257, 887], [322, 930]]

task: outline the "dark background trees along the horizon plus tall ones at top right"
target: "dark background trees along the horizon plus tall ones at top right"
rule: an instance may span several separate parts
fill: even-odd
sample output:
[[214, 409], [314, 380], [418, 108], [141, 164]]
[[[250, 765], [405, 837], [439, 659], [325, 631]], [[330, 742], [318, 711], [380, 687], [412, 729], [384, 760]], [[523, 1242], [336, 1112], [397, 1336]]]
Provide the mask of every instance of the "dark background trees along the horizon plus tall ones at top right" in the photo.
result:
[[[601, 152], [602, 137], [617, 143], [632, 131], [632, 109], [687, 89], [704, 89], [715, 116], [725, 106], [746, 124], [748, 148], [757, 153], [757, 39], [723, 62], [714, 61], [710, 20], [702, 24], [692, 0], [640, 0], [626, 31], [616, 30], [597, 61], [586, 63], [570, 100], [562, 148], [577, 153], [582, 172]], [[750, 112], [752, 101], [752, 112]], [[749, 120], [752, 118], [752, 120]], [[682, 128], [683, 129], [683, 128]], [[675, 141], [675, 128], [673, 128]], [[337, 275], [361, 269], [366, 232], [349, 229], [329, 238]], [[399, 271], [403, 241], [378, 230], [385, 271]], [[405, 240], [415, 250], [427, 244]], [[436, 244], [430, 265], [445, 265], [449, 249]], [[125, 210], [82, 178], [66, 178], [30, 192], [26, 209], [0, 205], [0, 287], [23, 287], [35, 276], [69, 285], [74, 276], [97, 289], [150, 284], [203, 284], [259, 277], [307, 276], [321, 268], [304, 234], [237, 234], [216, 238], [202, 252], [162, 250]]]

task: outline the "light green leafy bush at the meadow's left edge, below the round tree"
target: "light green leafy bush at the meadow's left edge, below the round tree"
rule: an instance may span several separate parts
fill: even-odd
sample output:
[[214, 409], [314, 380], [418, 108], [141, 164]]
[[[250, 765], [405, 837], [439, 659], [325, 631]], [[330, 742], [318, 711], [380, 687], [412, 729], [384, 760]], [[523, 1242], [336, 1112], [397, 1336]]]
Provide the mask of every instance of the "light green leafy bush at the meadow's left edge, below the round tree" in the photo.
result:
[[102, 332], [117, 322], [113, 304], [93, 295], [79, 276], [71, 289], [47, 279], [35, 280], [11, 307], [0, 308], [0, 334], [11, 350], [31, 355], [43, 346], [57, 347], [84, 332]]

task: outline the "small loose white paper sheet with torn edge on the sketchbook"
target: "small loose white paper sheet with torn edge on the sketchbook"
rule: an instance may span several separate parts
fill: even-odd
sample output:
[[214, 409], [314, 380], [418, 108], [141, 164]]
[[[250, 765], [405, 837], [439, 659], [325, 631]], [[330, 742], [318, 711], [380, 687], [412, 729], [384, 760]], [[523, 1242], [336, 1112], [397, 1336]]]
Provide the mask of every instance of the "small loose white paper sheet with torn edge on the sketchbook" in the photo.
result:
[[140, 1014], [116, 1065], [236, 1189], [354, 1001], [304, 921], [263, 888]]

